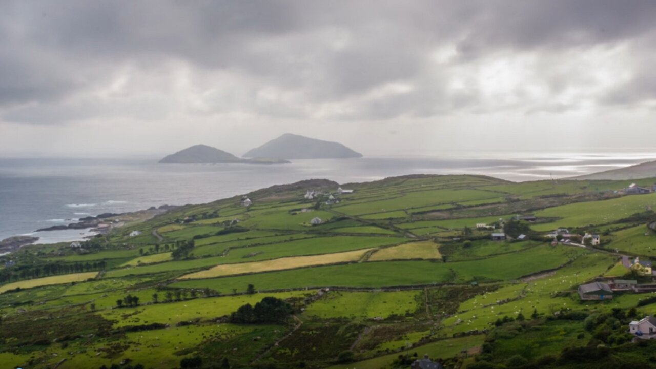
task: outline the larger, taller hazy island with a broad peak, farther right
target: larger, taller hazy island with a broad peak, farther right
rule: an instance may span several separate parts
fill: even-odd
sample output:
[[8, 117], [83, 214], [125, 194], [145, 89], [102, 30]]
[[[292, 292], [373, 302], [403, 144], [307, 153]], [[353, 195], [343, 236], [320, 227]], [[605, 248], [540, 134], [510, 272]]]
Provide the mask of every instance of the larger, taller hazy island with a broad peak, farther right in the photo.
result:
[[361, 158], [362, 154], [338, 142], [311, 139], [300, 135], [285, 133], [253, 148], [244, 154], [244, 158], [277, 159], [342, 159]]

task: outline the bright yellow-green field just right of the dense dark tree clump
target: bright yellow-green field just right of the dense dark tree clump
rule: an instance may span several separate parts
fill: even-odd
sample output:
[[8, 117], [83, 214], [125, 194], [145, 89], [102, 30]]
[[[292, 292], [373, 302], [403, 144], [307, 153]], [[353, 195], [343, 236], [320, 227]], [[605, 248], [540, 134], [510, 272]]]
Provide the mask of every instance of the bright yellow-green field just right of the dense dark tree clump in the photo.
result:
[[415, 313], [415, 296], [422, 291], [340, 292], [329, 291], [312, 303], [304, 315], [327, 318], [387, 318]]

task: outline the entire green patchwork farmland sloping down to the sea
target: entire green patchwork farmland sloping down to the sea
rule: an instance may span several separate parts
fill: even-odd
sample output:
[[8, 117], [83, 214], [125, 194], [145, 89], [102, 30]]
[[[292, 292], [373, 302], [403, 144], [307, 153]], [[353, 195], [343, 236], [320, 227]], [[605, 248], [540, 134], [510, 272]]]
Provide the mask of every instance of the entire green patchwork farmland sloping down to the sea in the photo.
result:
[[[240, 196], [178, 207], [79, 249], [25, 246], [0, 256], [16, 263], [0, 267], [0, 362], [401, 369], [426, 353], [460, 369], [592, 369], [603, 363], [572, 358], [600, 355], [650, 367], [656, 345], [625, 331], [654, 313], [656, 293], [577, 293], [600, 278], [654, 282], [627, 275], [614, 253], [647, 259], [656, 248], [646, 227], [656, 194], [613, 192], [627, 182], [411, 175], [343, 184], [355, 192], [340, 195], [312, 180], [249, 192], [250, 207]], [[329, 193], [340, 203], [325, 204]], [[516, 236], [508, 221], [528, 214], [539, 218], [520, 223], [530, 241], [493, 242], [476, 229], [501, 219]], [[557, 227], [600, 234], [601, 248], [541, 238]]]

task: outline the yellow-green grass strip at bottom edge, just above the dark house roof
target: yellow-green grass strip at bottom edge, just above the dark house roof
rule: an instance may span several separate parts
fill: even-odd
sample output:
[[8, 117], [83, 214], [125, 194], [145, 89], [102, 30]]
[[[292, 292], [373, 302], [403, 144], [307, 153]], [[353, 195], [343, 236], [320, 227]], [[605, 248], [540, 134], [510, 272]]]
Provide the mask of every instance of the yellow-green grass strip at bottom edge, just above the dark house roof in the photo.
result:
[[370, 358], [369, 360], [363, 360], [358, 362], [352, 362], [350, 364], [340, 364], [331, 366], [328, 369], [380, 369], [388, 368], [394, 359], [398, 358], [399, 355], [413, 355], [413, 353], [421, 353], [428, 355], [431, 358], [450, 358], [455, 357], [464, 349], [473, 349], [479, 347], [485, 341], [485, 335], [479, 334], [476, 336], [467, 336], [451, 339], [443, 339], [441, 341], [436, 341], [433, 343], [428, 343], [427, 345], [422, 345], [414, 347], [412, 349], [407, 349], [405, 351], [400, 351], [398, 353], [393, 353], [390, 355], [384, 355], [377, 358]]

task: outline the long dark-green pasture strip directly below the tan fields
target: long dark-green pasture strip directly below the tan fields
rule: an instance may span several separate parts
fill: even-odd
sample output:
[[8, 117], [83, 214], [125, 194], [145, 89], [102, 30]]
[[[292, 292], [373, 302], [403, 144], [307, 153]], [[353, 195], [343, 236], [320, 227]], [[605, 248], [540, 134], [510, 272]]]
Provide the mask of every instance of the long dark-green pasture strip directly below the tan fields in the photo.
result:
[[[580, 248], [541, 246], [517, 253], [476, 261], [440, 263], [433, 261], [377, 261], [186, 280], [172, 284], [180, 288], [214, 288], [244, 291], [248, 284], [260, 290], [310, 287], [412, 286], [471, 280], [513, 280], [526, 274], [558, 267], [568, 259], [586, 253]], [[503, 266], [503, 267], [500, 267]]]

